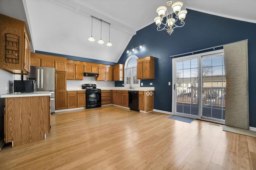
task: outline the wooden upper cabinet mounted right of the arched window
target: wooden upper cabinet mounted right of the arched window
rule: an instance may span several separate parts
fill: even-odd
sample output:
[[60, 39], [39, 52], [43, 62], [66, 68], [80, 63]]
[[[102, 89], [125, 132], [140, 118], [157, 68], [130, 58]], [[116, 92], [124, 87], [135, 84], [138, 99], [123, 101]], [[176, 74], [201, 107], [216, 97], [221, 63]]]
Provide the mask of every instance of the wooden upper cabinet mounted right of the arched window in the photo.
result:
[[155, 58], [152, 56], [137, 59], [137, 79], [155, 78]]

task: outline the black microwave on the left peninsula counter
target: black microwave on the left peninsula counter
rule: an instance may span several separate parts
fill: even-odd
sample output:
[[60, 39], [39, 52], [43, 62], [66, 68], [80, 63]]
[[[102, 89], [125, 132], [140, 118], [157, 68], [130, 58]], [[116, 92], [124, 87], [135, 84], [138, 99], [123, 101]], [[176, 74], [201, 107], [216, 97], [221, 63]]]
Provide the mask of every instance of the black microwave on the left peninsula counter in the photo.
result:
[[34, 81], [14, 80], [14, 92], [34, 92]]

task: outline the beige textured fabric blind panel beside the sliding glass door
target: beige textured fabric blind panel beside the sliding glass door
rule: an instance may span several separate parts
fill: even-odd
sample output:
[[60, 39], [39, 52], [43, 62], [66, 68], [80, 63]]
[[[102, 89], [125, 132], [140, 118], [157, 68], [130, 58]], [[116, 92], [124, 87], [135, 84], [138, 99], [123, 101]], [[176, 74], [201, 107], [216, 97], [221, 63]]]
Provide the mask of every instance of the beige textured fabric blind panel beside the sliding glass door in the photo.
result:
[[225, 125], [249, 129], [247, 41], [226, 45], [226, 115]]

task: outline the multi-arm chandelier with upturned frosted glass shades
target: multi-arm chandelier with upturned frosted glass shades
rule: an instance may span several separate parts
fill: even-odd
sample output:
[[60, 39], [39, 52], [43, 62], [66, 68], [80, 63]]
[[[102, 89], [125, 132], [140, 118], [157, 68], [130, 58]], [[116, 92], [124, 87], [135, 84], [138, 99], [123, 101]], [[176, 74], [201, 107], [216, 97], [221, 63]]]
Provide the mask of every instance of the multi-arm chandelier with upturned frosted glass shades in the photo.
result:
[[[187, 10], [181, 10], [181, 7], [183, 6], [183, 2], [174, 2], [168, 1], [166, 2], [166, 6], [159, 6], [156, 9], [156, 13], [158, 16], [154, 18], [154, 21], [157, 25], [157, 30], [162, 31], [166, 30], [169, 35], [171, 35], [172, 31], [176, 27], [183, 27], [185, 22], [184, 19], [186, 18], [186, 14], [188, 13]], [[166, 23], [163, 23], [163, 18], [166, 13]], [[175, 18], [173, 17], [173, 14], [175, 14]], [[180, 20], [181, 25], [176, 25], [176, 22]], [[161, 25], [164, 25], [164, 27], [161, 28]]]

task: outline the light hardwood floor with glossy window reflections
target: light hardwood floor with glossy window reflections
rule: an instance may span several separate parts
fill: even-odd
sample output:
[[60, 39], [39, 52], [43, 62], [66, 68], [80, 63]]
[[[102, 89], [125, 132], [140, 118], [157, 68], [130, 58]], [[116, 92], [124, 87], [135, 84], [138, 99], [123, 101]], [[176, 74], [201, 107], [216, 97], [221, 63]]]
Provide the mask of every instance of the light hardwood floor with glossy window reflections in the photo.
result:
[[51, 115], [47, 139], [0, 150], [9, 169], [256, 169], [256, 138], [116, 106]]

